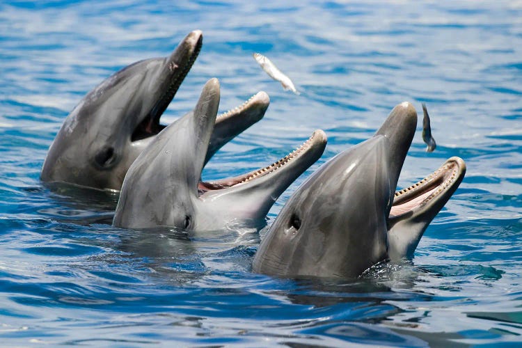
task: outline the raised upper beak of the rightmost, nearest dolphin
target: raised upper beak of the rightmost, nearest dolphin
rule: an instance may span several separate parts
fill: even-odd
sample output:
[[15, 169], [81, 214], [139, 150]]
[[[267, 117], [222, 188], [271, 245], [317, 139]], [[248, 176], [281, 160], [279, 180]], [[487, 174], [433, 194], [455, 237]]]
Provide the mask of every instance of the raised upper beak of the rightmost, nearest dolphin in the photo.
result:
[[406, 159], [416, 127], [417, 111], [411, 103], [402, 102], [393, 108], [386, 121], [374, 135], [385, 136], [389, 144], [388, 177], [390, 179], [390, 200], [388, 201], [386, 216], [388, 216], [393, 204], [393, 196], [402, 164], [404, 164], [404, 159]]

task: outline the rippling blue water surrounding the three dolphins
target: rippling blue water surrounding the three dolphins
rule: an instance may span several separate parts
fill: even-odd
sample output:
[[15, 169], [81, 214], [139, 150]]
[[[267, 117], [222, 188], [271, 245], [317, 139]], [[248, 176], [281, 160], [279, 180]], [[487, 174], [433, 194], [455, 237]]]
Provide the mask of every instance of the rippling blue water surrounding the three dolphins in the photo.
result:
[[[162, 120], [189, 111], [211, 77], [222, 111], [271, 97], [206, 179], [275, 161], [314, 129], [329, 136], [268, 223], [393, 106], [427, 103], [438, 147], [425, 152], [419, 126], [400, 186], [451, 156], [468, 171], [413, 262], [357, 281], [272, 278], [251, 272], [266, 230], [115, 229], [116, 194], [42, 186], [47, 148], [81, 97], [194, 29], [203, 49]], [[0, 65], [0, 345], [521, 344], [521, 1], [2, 1]]]

